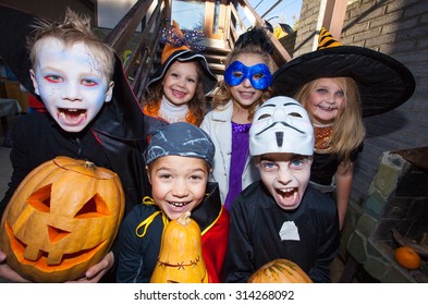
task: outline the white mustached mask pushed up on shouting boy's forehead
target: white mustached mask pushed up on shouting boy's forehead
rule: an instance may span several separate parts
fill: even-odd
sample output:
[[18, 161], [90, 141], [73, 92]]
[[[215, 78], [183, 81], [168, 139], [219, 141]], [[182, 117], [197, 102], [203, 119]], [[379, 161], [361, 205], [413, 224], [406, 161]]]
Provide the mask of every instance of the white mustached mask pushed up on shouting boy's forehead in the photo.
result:
[[265, 101], [249, 129], [249, 154], [314, 154], [314, 127], [303, 106], [285, 96]]

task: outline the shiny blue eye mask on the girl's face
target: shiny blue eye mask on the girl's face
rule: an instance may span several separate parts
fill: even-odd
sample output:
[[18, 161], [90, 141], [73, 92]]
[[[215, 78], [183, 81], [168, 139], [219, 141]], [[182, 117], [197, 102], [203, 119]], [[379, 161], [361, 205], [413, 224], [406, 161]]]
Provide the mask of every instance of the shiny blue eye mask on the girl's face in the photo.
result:
[[265, 63], [246, 66], [241, 61], [234, 61], [224, 72], [224, 81], [230, 86], [237, 86], [245, 78], [248, 78], [252, 86], [258, 90], [266, 89], [272, 84], [272, 74]]

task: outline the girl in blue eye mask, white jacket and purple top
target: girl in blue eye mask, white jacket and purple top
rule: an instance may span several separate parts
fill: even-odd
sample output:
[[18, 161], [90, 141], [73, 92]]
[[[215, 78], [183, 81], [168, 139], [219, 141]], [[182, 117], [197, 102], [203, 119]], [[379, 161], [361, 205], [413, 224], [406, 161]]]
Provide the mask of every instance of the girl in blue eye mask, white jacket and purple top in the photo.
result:
[[271, 95], [274, 63], [270, 51], [264, 29], [254, 27], [240, 36], [227, 57], [224, 81], [216, 90], [212, 110], [200, 125], [216, 145], [211, 181], [219, 183], [228, 209], [259, 178], [248, 155], [248, 130], [254, 112]]

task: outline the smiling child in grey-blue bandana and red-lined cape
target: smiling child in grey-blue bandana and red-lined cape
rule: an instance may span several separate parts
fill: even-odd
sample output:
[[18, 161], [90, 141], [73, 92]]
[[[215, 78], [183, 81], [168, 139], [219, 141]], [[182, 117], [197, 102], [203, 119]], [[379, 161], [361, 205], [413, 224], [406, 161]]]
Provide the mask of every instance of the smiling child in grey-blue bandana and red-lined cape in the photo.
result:
[[229, 213], [217, 183], [208, 183], [215, 146], [200, 129], [172, 123], [152, 135], [147, 149], [152, 198], [146, 197], [119, 232], [118, 282], [149, 282], [169, 220], [191, 211], [201, 231], [209, 282], [219, 282], [228, 244]]

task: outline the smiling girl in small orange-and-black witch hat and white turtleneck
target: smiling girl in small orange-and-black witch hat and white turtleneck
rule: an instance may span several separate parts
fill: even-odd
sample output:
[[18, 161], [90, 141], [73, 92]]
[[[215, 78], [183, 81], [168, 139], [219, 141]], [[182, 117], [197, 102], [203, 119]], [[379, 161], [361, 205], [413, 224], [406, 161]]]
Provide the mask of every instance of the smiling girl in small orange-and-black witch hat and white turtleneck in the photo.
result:
[[193, 45], [175, 22], [164, 32], [162, 40], [166, 41], [162, 65], [147, 84], [144, 112], [169, 123], [199, 126], [206, 109], [205, 95], [216, 86], [217, 76], [205, 57], [191, 50]]

